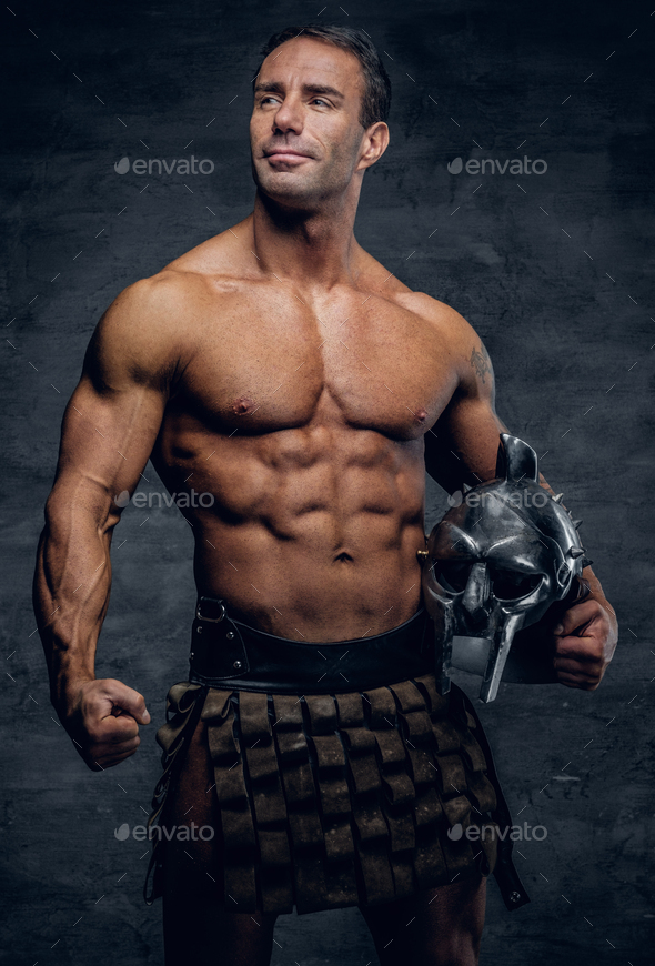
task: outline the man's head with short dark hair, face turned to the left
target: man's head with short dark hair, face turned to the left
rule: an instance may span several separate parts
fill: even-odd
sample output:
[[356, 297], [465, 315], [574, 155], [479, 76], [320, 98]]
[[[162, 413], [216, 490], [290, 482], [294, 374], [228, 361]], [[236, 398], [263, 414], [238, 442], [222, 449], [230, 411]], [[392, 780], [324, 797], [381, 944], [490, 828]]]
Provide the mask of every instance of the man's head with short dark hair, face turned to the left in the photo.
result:
[[365, 33], [288, 28], [262, 50], [250, 122], [253, 178], [264, 195], [311, 210], [359, 197], [389, 143], [391, 84]]

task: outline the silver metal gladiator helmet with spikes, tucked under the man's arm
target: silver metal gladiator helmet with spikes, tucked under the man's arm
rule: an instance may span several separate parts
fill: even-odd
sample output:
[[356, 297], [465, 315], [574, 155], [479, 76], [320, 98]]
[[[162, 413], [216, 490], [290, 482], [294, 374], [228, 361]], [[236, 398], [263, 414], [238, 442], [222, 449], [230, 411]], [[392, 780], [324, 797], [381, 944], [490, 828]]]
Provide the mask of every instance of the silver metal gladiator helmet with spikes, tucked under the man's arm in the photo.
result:
[[575, 522], [538, 484], [534, 450], [501, 435], [497, 479], [466, 489], [433, 529], [423, 596], [434, 621], [436, 684], [450, 691], [454, 636], [486, 638], [480, 697], [493, 701], [514, 634], [570, 595], [588, 561]]

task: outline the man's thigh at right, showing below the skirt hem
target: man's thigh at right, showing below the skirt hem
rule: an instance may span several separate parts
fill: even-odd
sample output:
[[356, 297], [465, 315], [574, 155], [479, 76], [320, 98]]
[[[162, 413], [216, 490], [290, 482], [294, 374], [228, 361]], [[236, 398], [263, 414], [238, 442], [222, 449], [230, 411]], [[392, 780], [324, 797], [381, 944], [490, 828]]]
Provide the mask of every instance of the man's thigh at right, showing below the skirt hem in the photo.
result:
[[485, 903], [486, 878], [475, 875], [360, 912], [381, 966], [476, 966]]

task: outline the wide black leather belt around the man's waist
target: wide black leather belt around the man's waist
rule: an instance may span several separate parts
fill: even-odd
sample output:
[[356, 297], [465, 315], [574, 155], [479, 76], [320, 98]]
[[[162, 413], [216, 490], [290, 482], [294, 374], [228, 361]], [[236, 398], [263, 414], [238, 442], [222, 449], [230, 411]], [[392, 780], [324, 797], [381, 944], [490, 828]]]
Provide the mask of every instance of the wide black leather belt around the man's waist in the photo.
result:
[[223, 601], [200, 597], [189, 681], [235, 691], [333, 694], [382, 687], [434, 671], [430, 617], [421, 608], [372, 637], [314, 643], [276, 637], [232, 620]]

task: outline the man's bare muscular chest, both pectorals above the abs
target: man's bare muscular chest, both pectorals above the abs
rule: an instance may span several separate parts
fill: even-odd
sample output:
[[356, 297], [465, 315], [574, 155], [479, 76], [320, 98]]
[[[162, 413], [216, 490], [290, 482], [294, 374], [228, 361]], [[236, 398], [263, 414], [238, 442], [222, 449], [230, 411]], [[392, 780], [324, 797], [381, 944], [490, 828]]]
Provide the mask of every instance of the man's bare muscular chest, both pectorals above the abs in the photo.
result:
[[394, 440], [423, 435], [456, 385], [444, 340], [377, 296], [303, 306], [234, 300], [203, 318], [172, 410], [230, 435], [310, 425], [321, 415]]

